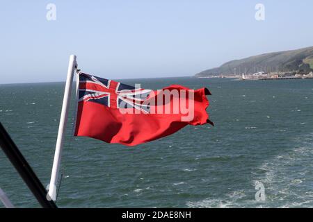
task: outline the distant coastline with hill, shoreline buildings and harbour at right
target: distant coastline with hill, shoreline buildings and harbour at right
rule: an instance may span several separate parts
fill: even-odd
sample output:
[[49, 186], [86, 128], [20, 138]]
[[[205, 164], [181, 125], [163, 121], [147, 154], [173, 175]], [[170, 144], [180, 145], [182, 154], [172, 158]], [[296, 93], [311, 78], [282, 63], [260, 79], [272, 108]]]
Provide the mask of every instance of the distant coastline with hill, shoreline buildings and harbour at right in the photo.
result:
[[243, 80], [301, 79], [313, 78], [312, 71], [313, 46], [232, 60], [220, 67], [201, 71], [195, 74], [195, 77]]

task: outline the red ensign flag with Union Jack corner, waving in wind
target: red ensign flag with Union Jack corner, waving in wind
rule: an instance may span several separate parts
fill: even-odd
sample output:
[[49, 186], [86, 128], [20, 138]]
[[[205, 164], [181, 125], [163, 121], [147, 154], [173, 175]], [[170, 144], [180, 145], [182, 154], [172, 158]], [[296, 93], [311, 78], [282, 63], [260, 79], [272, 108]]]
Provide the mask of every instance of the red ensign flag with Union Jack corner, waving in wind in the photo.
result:
[[74, 135], [135, 146], [188, 124], [213, 125], [206, 112], [206, 95], [210, 95], [207, 88], [141, 89], [80, 73]]

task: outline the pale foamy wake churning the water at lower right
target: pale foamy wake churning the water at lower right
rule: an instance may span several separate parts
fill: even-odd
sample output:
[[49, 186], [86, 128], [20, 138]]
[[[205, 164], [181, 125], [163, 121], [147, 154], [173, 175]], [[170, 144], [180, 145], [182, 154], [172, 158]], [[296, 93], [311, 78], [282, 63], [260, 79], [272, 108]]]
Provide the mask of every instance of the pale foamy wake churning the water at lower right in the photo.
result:
[[259, 170], [269, 207], [313, 207], [313, 134], [298, 136], [290, 151], [264, 162]]

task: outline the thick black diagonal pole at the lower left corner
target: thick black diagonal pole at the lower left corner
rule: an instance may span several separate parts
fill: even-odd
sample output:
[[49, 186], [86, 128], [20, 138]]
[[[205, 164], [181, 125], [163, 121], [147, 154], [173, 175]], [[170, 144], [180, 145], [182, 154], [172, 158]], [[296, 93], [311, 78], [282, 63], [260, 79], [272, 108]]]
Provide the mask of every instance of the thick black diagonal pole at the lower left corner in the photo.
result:
[[0, 146], [3, 152], [6, 153], [6, 156], [13, 164], [19, 175], [23, 178], [26, 185], [29, 187], [29, 189], [31, 189], [31, 192], [35, 198], [37, 198], [40, 205], [45, 208], [57, 208], [53, 201], [47, 200], [47, 191], [45, 187], [43, 187], [42, 183], [33, 172], [33, 169], [31, 169], [31, 166], [29, 166], [29, 163], [25, 160], [24, 156], [19, 151], [1, 123]]

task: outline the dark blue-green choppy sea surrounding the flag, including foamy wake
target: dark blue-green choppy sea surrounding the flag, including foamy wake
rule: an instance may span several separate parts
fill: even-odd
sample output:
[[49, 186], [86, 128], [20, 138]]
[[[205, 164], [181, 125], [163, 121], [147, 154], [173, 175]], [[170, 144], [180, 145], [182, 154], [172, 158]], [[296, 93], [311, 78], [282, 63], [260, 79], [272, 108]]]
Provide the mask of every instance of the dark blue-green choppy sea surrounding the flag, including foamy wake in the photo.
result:
[[[122, 83], [146, 89], [208, 87], [207, 112], [215, 126], [186, 126], [135, 147], [106, 144], [71, 136], [71, 103], [58, 207], [313, 207], [312, 79]], [[64, 86], [0, 85], [0, 121], [45, 186]], [[265, 200], [255, 198], [260, 183]], [[2, 151], [0, 187], [16, 207], [40, 207]]]

